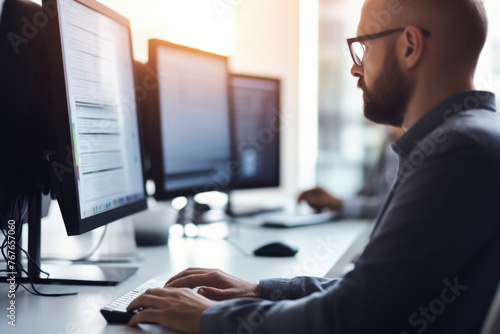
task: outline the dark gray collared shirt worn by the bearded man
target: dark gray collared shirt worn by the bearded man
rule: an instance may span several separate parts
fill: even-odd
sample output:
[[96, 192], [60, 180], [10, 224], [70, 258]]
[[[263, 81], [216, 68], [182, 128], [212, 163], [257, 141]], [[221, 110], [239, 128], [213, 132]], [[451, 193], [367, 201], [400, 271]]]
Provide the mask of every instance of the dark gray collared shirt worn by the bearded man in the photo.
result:
[[396, 182], [344, 278], [260, 282], [215, 304], [203, 333], [478, 333], [500, 280], [500, 117], [457, 94], [393, 149]]

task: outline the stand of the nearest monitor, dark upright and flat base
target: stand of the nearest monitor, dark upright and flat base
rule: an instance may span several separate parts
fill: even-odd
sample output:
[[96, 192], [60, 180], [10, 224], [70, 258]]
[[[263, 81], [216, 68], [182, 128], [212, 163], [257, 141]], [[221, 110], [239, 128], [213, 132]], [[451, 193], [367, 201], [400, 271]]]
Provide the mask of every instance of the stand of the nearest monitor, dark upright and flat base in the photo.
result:
[[[105, 267], [88, 264], [69, 264], [69, 265], [41, 265], [41, 200], [42, 192], [40, 189], [33, 190], [30, 194], [28, 204], [28, 255], [31, 260], [27, 260], [27, 272], [31, 281], [36, 284], [70, 284], [70, 285], [117, 285], [121, 281], [133, 275], [138, 268], [136, 267]], [[19, 228], [19, 226], [17, 226]], [[18, 234], [17, 243], [21, 247], [22, 235]], [[16, 247], [16, 259], [21, 259], [21, 250]], [[46, 271], [49, 277], [44, 274]], [[7, 263], [7, 277], [3, 276], [0, 280], [10, 278], [13, 274], [17, 275], [17, 280], [21, 282], [30, 282], [30, 279], [22, 274], [19, 268], [13, 268]], [[25, 267], [26, 269], [26, 267]]]

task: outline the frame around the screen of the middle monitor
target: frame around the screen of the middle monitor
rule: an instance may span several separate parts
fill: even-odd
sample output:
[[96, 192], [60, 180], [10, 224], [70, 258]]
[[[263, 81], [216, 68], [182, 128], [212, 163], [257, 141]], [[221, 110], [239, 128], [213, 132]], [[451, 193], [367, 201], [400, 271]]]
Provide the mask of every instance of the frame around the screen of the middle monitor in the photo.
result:
[[[160, 39], [150, 39], [149, 40], [149, 60], [146, 66], [153, 72], [155, 85], [151, 89], [151, 98], [148, 102], [148, 108], [144, 110], [143, 123], [146, 125], [145, 133], [145, 143], [146, 143], [146, 151], [149, 154], [149, 158], [151, 159], [151, 169], [149, 176], [152, 178], [154, 183], [156, 184], [156, 191], [154, 193], [154, 198], [159, 201], [171, 200], [180, 196], [194, 196], [197, 193], [206, 191], [221, 191], [227, 192], [230, 191], [233, 187], [234, 178], [231, 175], [231, 180], [226, 187], [222, 188], [213, 188], [213, 189], [203, 189], [204, 191], [195, 191], [193, 187], [179, 189], [176, 191], [166, 190], [164, 188], [165, 184], [165, 173], [164, 171], [164, 159], [163, 159], [163, 141], [162, 141], [162, 130], [161, 130], [161, 110], [160, 110], [160, 84], [158, 79], [158, 57], [157, 52], [159, 48], [166, 47], [177, 49], [181, 51], [190, 52], [197, 55], [202, 55], [204, 57], [217, 58], [219, 60], [223, 60], [226, 67], [226, 75], [227, 75], [227, 110], [229, 117], [229, 127], [230, 127], [230, 161], [228, 162], [231, 166], [235, 163], [235, 152], [233, 147], [233, 138], [234, 138], [234, 129], [233, 129], [233, 113], [231, 111], [231, 91], [230, 91], [230, 72], [228, 68], [228, 57], [219, 55], [216, 53], [211, 53], [195, 48], [191, 48], [185, 45], [175, 44], [172, 42], [168, 42]], [[229, 167], [229, 166], [228, 166]]]

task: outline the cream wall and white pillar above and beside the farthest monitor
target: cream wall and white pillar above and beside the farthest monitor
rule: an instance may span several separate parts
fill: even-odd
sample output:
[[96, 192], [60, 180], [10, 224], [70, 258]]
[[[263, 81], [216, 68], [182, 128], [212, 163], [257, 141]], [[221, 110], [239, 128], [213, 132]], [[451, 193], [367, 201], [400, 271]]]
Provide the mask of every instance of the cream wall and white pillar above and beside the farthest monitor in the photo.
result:
[[[237, 2], [233, 70], [282, 80], [282, 187], [313, 185], [317, 152], [317, 0]], [[248, 192], [247, 192], [248, 193]]]

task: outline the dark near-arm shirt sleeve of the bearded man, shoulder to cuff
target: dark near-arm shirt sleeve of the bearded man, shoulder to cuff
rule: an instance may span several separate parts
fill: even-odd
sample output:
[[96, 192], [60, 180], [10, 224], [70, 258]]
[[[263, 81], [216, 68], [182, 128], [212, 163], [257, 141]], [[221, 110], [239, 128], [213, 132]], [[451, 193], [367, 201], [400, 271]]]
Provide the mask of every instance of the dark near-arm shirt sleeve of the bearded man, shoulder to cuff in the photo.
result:
[[[475, 214], [488, 215], [495, 207], [498, 196], [492, 194], [498, 190], [491, 182], [493, 177], [491, 166], [476, 147], [441, 147], [404, 175], [372, 240], [343, 279], [316, 281], [309, 289], [304, 283], [307, 280], [300, 278], [297, 294], [290, 288], [293, 280], [264, 281], [264, 297], [273, 299], [276, 288], [283, 293], [281, 299], [288, 300], [219, 302], [202, 314], [202, 333], [400, 333], [422, 329], [414, 327], [418, 323], [412, 323], [411, 316], [418, 316], [422, 306], [441, 298], [447, 284], [455, 284], [456, 289], [467, 285], [467, 276], [459, 273], [492, 242], [490, 233], [485, 233], [492, 229], [485, 225], [492, 222], [478, 220]], [[479, 293], [474, 288], [481, 287], [468, 288], [471, 298]], [[315, 289], [318, 292], [312, 292]], [[460, 307], [462, 301], [473, 302], [465, 294], [460, 298], [454, 307]], [[443, 313], [432, 325], [439, 326], [439, 321], [452, 314]], [[448, 319], [450, 323], [453, 319]]]

